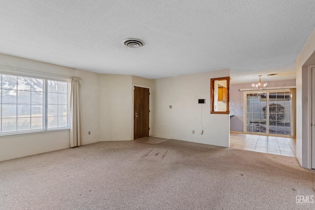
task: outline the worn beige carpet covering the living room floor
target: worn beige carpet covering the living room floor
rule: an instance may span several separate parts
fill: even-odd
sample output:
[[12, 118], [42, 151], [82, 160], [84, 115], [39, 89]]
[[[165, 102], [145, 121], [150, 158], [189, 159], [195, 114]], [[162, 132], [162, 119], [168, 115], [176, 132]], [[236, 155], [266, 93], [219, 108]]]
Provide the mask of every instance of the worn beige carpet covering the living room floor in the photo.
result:
[[[150, 144], [149, 144], [150, 143]], [[1, 210], [315, 209], [294, 157], [183, 141], [99, 142], [0, 162]]]

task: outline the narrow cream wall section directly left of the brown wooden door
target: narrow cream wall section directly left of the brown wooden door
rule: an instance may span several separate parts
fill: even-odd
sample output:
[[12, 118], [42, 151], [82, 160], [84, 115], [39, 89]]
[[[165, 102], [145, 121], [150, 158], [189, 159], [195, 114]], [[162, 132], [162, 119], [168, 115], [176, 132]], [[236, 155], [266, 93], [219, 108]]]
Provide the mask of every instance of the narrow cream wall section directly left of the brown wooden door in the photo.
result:
[[100, 141], [130, 141], [132, 76], [100, 76]]

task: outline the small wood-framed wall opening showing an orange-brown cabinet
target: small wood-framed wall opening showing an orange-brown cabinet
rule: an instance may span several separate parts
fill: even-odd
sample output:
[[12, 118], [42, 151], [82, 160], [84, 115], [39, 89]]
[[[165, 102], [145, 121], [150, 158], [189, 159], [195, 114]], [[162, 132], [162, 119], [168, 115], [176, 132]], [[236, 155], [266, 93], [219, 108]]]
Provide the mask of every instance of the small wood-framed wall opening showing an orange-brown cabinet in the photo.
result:
[[230, 77], [210, 79], [211, 114], [230, 114]]

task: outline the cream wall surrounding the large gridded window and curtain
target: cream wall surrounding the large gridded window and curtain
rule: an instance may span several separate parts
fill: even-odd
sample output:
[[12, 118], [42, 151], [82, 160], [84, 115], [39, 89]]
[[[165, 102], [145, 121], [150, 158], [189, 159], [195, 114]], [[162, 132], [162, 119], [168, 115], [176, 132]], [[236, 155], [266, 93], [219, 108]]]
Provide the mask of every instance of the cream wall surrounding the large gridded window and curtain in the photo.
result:
[[[0, 54], [0, 71], [17, 72], [10, 70], [10, 67], [30, 69], [33, 75], [81, 77], [82, 144], [99, 141], [99, 74]], [[23, 69], [18, 72], [30, 74], [31, 71]], [[91, 135], [88, 135], [88, 131], [91, 131]], [[0, 161], [69, 147], [69, 130], [0, 136]]]

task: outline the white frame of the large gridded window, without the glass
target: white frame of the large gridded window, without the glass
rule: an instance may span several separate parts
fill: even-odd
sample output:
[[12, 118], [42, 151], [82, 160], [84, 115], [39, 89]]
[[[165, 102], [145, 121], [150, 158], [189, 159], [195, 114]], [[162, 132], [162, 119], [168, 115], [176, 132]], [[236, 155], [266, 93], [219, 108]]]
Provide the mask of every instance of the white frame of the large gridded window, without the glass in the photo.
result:
[[[29, 130], [15, 130], [15, 131], [8, 131], [8, 132], [2, 132], [2, 93], [0, 94], [1, 97], [1, 101], [0, 101], [0, 105], [1, 105], [1, 109], [0, 109], [0, 136], [7, 136], [7, 135], [17, 135], [17, 134], [27, 134], [27, 133], [36, 133], [36, 132], [45, 132], [45, 131], [54, 131], [54, 130], [66, 130], [66, 129], [70, 129], [70, 87], [71, 87], [71, 79], [69, 77], [59, 77], [59, 76], [55, 76], [55, 75], [51, 75], [51, 76], [46, 76], [44, 74], [43, 75], [38, 75], [38, 74], [34, 74], [34, 73], [30, 73], [30, 74], [23, 74], [23, 73], [14, 73], [14, 72], [7, 72], [7, 71], [0, 71], [0, 75], [8, 75], [8, 76], [16, 76], [16, 77], [25, 77], [25, 78], [31, 78], [31, 79], [40, 79], [43, 80], [43, 88], [42, 88], [42, 94], [43, 94], [43, 101], [42, 101], [42, 123], [43, 126], [40, 129], [33, 129], [30, 127]], [[2, 77], [0, 77], [2, 78]], [[54, 127], [54, 128], [48, 128], [48, 81], [57, 81], [57, 82], [66, 82], [67, 83], [67, 115], [66, 115], [66, 119], [67, 119], [67, 125], [64, 127]], [[1, 81], [2, 82], [2, 81]], [[18, 88], [17, 88], [18, 89]], [[2, 90], [2, 84], [0, 86], [0, 90]], [[32, 90], [30, 90], [30, 94], [32, 94]], [[17, 95], [18, 97], [18, 95]], [[58, 97], [58, 96], [57, 96]], [[30, 103], [30, 105], [32, 104], [32, 102]], [[18, 126], [18, 99], [16, 101], [16, 105], [17, 105], [17, 111], [16, 111], [16, 123]], [[31, 110], [32, 111], [32, 108]], [[57, 118], [59, 118], [59, 116], [55, 116]], [[31, 118], [31, 115], [30, 115]]]

